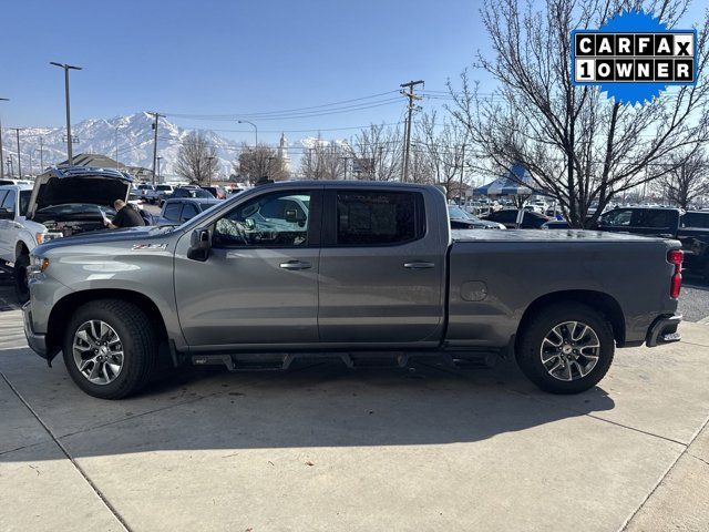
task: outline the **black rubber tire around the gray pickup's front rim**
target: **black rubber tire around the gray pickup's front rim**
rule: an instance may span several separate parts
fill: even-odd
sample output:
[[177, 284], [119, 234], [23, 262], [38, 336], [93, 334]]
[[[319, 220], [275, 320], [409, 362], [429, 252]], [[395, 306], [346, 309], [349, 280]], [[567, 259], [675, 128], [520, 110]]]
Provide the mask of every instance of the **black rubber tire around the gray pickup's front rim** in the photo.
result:
[[[107, 383], [91, 382], [74, 361], [74, 335], [90, 320], [107, 324], [122, 344], [123, 366]], [[99, 299], [81, 306], [69, 321], [62, 350], [69, 375], [76, 386], [100, 399], [122, 399], [136, 393], [150, 382], [157, 362], [157, 341], [151, 320], [140, 307], [121, 299]]]

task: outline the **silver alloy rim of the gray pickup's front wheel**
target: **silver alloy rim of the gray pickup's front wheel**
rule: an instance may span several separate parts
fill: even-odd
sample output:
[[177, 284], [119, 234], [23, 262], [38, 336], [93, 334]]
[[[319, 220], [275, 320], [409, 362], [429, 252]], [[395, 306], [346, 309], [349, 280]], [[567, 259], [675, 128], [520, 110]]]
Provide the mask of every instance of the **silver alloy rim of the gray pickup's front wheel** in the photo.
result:
[[123, 342], [115, 329], [100, 319], [79, 326], [72, 351], [79, 372], [94, 385], [110, 385], [123, 369]]

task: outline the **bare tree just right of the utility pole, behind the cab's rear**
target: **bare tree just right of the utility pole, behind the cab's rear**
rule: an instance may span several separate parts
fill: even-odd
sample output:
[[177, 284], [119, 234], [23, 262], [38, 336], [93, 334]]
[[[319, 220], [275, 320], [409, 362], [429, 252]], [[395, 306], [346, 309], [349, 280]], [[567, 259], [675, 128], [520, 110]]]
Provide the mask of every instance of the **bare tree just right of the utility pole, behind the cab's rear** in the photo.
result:
[[435, 184], [445, 187], [449, 200], [461, 196], [463, 161], [467, 142], [467, 130], [458, 120], [438, 121], [435, 111], [424, 113], [417, 123], [417, 144], [429, 158]]

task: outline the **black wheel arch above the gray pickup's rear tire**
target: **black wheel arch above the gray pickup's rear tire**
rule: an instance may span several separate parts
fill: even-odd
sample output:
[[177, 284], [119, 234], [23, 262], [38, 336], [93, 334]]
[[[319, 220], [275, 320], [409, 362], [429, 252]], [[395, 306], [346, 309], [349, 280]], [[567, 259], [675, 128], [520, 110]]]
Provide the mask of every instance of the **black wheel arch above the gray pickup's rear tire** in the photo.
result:
[[616, 342], [619, 346], [625, 344], [625, 315], [620, 304], [613, 296], [597, 290], [562, 290], [536, 298], [525, 309], [518, 330], [523, 330], [535, 313], [542, 308], [568, 301], [586, 305], [600, 313], [610, 324]]

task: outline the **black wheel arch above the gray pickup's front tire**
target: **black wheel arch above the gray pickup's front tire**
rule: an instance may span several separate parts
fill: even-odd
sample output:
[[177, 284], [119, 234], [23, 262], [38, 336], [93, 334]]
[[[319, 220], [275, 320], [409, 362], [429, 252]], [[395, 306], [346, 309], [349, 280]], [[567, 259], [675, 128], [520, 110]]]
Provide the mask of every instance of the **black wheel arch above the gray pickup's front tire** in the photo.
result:
[[165, 319], [158, 306], [145, 294], [127, 289], [97, 288], [91, 290], [80, 290], [68, 294], [52, 307], [47, 325], [47, 347], [49, 350], [61, 349], [64, 325], [80, 306], [99, 299], [120, 299], [132, 303], [143, 310], [153, 330], [157, 334], [158, 342], [166, 342], [168, 339]]

